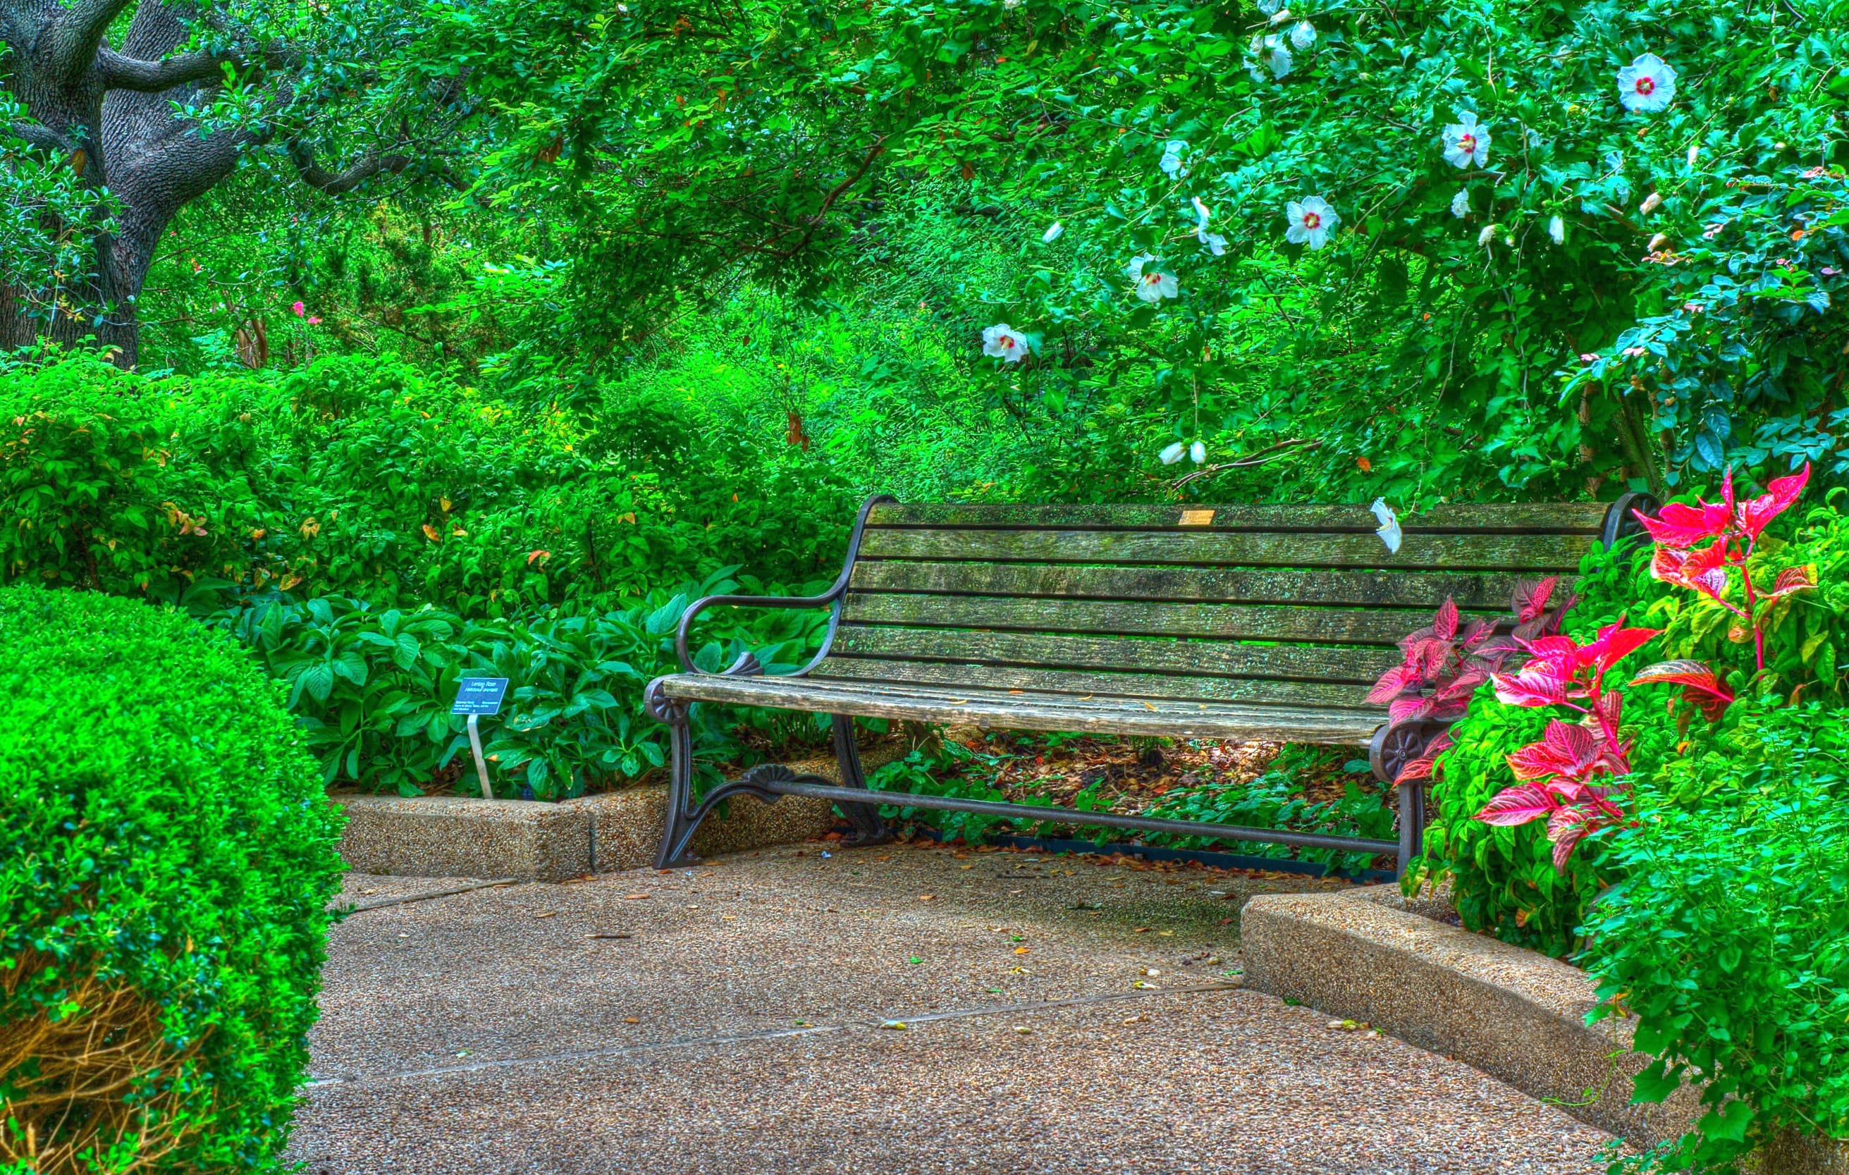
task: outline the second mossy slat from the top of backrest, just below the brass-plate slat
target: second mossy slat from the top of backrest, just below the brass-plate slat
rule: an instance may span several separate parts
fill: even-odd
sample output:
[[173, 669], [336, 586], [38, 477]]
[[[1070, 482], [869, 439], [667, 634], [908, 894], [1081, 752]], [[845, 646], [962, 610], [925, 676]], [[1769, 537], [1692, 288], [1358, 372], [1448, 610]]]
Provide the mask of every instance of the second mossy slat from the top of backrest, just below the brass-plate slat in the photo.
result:
[[1577, 571], [1583, 534], [1407, 534], [1398, 552], [1376, 534], [1148, 530], [869, 530], [862, 560], [1008, 563], [1169, 563], [1189, 567], [1429, 567]]

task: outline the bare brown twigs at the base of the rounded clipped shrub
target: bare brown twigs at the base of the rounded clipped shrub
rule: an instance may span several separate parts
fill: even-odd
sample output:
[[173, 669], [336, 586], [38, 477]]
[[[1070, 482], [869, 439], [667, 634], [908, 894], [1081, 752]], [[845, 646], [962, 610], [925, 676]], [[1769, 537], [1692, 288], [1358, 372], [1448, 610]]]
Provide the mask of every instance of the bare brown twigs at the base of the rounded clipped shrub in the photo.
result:
[[[0, 1005], [50, 959], [30, 951], [0, 968]], [[96, 977], [72, 985], [78, 1009], [0, 1024], [0, 1164], [30, 1160], [39, 1175], [146, 1171], [187, 1142], [189, 1101], [209, 1094], [161, 1081], [198, 1053], [166, 1042], [161, 1007]], [[198, 1127], [192, 1127], [198, 1129]]]

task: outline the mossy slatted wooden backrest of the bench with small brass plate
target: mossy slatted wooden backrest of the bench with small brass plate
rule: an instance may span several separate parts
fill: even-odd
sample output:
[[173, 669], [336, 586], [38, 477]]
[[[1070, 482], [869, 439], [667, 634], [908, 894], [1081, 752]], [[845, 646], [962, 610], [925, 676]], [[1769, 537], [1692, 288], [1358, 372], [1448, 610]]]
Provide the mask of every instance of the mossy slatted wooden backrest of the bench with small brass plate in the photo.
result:
[[1509, 610], [1572, 580], [1629, 504], [878, 504], [812, 676], [1200, 702], [1366, 708], [1394, 641], [1453, 597]]

